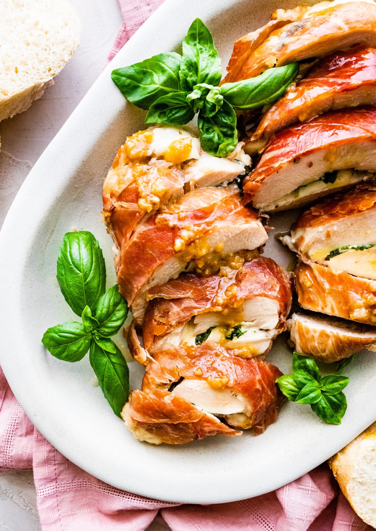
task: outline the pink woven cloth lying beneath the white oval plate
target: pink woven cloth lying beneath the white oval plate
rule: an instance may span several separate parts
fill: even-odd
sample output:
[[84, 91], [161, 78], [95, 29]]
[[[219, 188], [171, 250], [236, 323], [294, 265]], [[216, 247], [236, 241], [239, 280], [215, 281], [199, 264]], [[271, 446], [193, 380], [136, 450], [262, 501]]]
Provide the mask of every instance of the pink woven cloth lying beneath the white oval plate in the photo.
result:
[[[114, 57], [162, 0], [119, 0], [124, 23]], [[0, 369], [0, 468], [33, 469], [43, 531], [142, 531], [163, 518], [173, 531], [365, 531], [326, 464], [249, 500], [211, 506], [150, 500], [107, 485], [61, 455], [36, 430]], [[158, 516], [157, 516], [158, 515]]]

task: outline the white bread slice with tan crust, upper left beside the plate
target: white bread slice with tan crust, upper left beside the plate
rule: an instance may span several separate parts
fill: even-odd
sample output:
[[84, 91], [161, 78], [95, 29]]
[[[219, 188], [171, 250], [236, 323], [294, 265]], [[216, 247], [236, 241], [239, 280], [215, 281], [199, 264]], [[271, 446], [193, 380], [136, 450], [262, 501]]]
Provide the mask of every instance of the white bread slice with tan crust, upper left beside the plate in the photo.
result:
[[0, 121], [41, 97], [80, 34], [78, 15], [66, 0], [1, 0]]

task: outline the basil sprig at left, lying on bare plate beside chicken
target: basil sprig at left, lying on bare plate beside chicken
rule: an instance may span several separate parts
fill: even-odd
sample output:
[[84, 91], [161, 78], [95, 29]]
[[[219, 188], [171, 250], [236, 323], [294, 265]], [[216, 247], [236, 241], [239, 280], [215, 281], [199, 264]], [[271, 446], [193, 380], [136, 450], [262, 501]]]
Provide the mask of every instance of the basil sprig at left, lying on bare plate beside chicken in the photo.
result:
[[89, 232], [64, 236], [57, 261], [57, 280], [66, 302], [82, 323], [48, 328], [42, 344], [56, 358], [78, 362], [90, 349], [90, 364], [114, 413], [120, 416], [129, 393], [129, 370], [110, 339], [122, 327], [128, 306], [115, 286], [105, 291], [106, 266], [96, 238]]

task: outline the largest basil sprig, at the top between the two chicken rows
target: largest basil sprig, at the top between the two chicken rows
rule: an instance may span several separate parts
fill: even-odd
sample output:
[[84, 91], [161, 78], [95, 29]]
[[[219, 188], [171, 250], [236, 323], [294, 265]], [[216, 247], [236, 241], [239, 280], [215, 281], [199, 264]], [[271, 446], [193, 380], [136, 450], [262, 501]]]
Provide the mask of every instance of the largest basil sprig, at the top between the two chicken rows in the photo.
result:
[[181, 126], [199, 113], [202, 148], [227, 157], [237, 144], [234, 109], [270, 105], [284, 95], [298, 63], [270, 68], [256, 78], [218, 84], [221, 60], [206, 25], [195, 19], [182, 43], [183, 55], [159, 54], [111, 76], [127, 100], [148, 110], [145, 123]]

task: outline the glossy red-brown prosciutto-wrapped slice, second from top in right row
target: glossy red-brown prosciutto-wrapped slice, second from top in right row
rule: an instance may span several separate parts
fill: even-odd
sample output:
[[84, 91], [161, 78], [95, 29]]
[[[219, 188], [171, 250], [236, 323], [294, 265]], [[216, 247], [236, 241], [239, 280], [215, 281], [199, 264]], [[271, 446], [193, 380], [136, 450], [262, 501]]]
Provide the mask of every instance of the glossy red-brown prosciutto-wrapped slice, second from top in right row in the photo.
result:
[[329, 110], [376, 105], [376, 49], [356, 48], [322, 59], [264, 114], [253, 139], [270, 136]]

